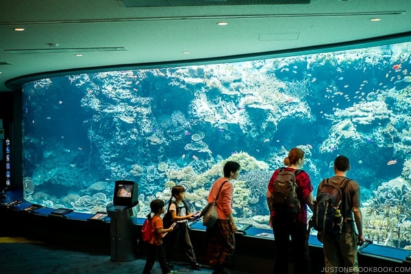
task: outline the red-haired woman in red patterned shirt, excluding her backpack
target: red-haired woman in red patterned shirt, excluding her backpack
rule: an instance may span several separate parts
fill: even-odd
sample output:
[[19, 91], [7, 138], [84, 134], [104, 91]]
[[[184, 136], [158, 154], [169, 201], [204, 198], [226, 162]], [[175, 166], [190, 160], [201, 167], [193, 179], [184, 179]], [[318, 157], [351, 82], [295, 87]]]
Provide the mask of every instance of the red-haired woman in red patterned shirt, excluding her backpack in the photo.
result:
[[[286, 171], [299, 171], [304, 164], [305, 155], [302, 149], [297, 147], [290, 150], [288, 157], [284, 159], [287, 166]], [[271, 208], [271, 198], [273, 186], [279, 169], [271, 176], [268, 190], [267, 203], [270, 208], [270, 226], [273, 227], [275, 242], [274, 273], [288, 274], [288, 246], [291, 244], [292, 256], [294, 259], [295, 273], [310, 274], [310, 256], [308, 255], [308, 235], [307, 235], [307, 206], [312, 209], [314, 197], [310, 176], [306, 171], [299, 171], [295, 175], [298, 185], [296, 189], [297, 198], [300, 203], [300, 210], [297, 214], [289, 212], [276, 212]], [[290, 242], [291, 236], [291, 242]]]

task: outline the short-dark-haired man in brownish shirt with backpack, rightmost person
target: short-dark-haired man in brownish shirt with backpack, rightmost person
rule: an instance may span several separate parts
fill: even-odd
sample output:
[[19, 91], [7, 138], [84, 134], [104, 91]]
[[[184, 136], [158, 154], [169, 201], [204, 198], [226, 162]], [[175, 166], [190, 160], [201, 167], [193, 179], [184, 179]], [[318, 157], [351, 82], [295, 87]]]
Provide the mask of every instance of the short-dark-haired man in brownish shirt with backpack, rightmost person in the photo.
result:
[[[323, 227], [321, 227], [323, 231], [319, 231], [319, 234], [322, 235], [324, 245], [325, 269], [323, 272], [327, 274], [338, 273], [340, 262], [343, 263], [345, 270], [349, 271], [346, 273], [358, 273], [357, 245], [364, 243], [364, 236], [362, 235], [362, 214], [360, 210], [360, 186], [352, 179], [347, 179], [346, 175], [349, 169], [349, 159], [344, 155], [339, 155], [334, 160], [335, 176], [324, 179], [320, 183], [317, 191], [317, 199], [314, 203], [314, 223], [317, 214], [317, 216], [319, 216], [318, 218], [327, 219], [323, 214], [319, 214], [321, 210], [316, 212], [317, 208], [319, 208], [321, 193], [324, 193], [324, 189], [329, 188], [329, 185], [340, 189], [342, 226], [339, 227], [339, 222], [335, 221], [332, 226], [337, 225], [337, 228], [330, 227], [326, 229], [327, 225], [323, 225]], [[354, 221], [358, 230], [358, 236], [354, 227]], [[314, 228], [318, 229], [315, 224]]]

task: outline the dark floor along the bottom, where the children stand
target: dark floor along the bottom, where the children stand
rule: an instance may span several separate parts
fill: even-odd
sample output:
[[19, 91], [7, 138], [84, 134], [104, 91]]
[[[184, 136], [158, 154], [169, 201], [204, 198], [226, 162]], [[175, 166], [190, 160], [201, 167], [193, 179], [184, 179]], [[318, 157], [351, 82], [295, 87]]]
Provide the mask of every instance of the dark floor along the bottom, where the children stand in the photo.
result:
[[[190, 269], [189, 264], [173, 262], [177, 273], [212, 273], [203, 266], [199, 271]], [[90, 253], [82, 249], [66, 249], [50, 243], [38, 242], [21, 237], [0, 236], [0, 273], [2, 274], [60, 274], [60, 273], [142, 273], [145, 258], [130, 262], [114, 262], [110, 256]], [[226, 269], [227, 273], [246, 274]], [[153, 274], [160, 274], [156, 262]]]

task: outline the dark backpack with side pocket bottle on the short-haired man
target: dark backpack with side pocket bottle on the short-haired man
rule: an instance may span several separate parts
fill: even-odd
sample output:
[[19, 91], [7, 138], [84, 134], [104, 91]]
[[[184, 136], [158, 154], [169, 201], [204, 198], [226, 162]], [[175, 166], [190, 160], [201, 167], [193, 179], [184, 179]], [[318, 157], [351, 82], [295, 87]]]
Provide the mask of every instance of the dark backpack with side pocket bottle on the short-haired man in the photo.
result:
[[319, 191], [314, 202], [312, 225], [318, 232], [341, 233], [343, 230], [343, 216], [336, 216], [341, 209], [343, 190], [351, 179], [345, 179], [340, 187], [329, 184], [328, 179]]

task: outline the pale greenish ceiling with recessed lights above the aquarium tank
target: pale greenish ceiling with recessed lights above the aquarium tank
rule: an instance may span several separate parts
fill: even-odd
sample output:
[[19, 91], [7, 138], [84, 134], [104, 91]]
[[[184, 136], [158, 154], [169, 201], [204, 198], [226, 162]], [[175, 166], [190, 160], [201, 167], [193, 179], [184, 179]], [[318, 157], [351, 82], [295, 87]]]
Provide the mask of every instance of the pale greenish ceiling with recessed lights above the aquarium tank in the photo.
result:
[[56, 71], [284, 55], [386, 36], [411, 40], [411, 1], [0, 0], [0, 91]]

